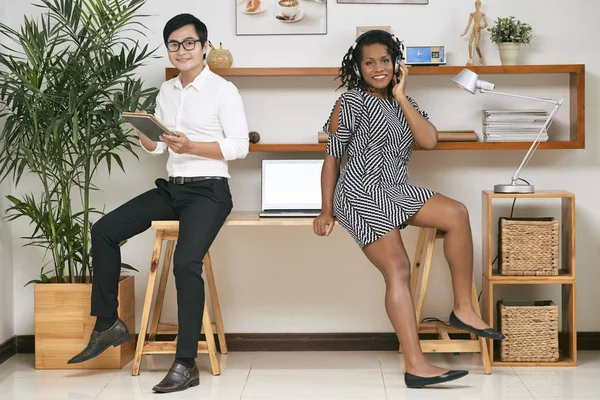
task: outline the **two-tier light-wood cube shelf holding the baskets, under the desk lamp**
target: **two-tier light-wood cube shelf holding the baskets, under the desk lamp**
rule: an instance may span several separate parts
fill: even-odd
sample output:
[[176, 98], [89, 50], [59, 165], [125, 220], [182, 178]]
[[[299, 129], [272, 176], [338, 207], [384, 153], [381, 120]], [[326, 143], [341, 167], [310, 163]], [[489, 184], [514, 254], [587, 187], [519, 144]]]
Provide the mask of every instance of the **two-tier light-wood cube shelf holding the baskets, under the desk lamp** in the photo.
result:
[[[559, 199], [561, 202], [561, 248], [560, 270], [558, 276], [505, 276], [500, 275], [492, 265], [492, 202], [494, 199]], [[500, 194], [484, 190], [482, 192], [482, 316], [484, 321], [494, 326], [495, 298], [497, 285], [561, 285], [562, 329], [559, 334], [560, 359], [549, 363], [502, 362], [494, 357], [494, 346], [488, 340], [488, 350], [492, 365], [498, 366], [576, 366], [577, 365], [577, 329], [576, 329], [576, 279], [575, 279], [575, 195], [562, 190], [540, 190], [530, 194]]]

